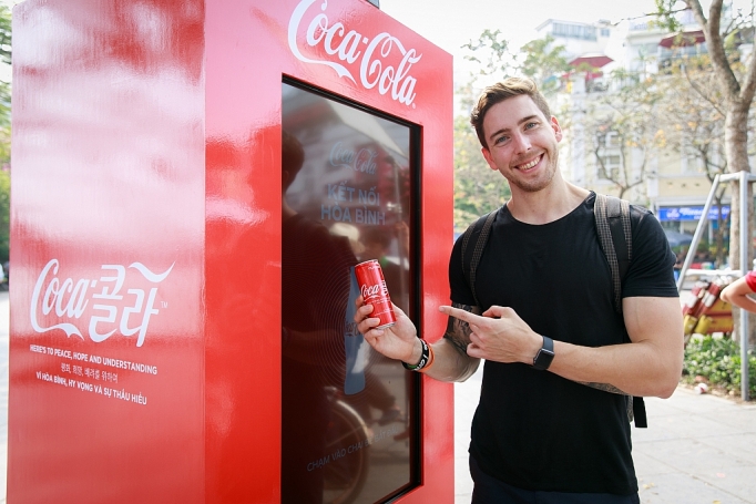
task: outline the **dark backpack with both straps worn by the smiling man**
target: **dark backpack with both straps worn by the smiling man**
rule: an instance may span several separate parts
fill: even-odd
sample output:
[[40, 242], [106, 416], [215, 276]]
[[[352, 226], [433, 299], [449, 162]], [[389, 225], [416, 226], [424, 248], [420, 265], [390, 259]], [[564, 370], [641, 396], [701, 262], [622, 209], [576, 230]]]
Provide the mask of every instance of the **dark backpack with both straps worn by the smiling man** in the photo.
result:
[[[476, 292], [476, 274], [478, 264], [483, 255], [493, 218], [499, 210], [483, 215], [471, 224], [459, 238], [462, 240], [462, 271], [468, 280], [476, 305], [480, 306]], [[596, 194], [593, 207], [596, 233], [601, 248], [609, 263], [612, 274], [612, 289], [614, 292], [614, 310], [622, 315], [622, 279], [627, 272], [633, 259], [633, 239], [631, 220], [640, 223], [644, 213], [630, 208], [630, 204], [613, 196]], [[630, 342], [625, 340], [624, 342]], [[646, 428], [646, 409], [643, 398], [626, 395], [627, 420], [635, 420], [636, 428]]]

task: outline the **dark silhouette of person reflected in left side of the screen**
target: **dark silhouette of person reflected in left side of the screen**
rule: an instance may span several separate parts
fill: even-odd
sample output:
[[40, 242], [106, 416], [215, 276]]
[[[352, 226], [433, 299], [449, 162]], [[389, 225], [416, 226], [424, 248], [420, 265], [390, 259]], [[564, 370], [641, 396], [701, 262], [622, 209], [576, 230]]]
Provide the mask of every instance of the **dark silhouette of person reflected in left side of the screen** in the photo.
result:
[[[305, 152], [282, 136], [282, 504], [323, 504], [328, 484], [313, 463], [327, 454], [331, 404], [328, 388], [344, 384], [344, 330], [349, 239], [307, 218], [286, 199]], [[309, 467], [309, 469], [308, 469]]]

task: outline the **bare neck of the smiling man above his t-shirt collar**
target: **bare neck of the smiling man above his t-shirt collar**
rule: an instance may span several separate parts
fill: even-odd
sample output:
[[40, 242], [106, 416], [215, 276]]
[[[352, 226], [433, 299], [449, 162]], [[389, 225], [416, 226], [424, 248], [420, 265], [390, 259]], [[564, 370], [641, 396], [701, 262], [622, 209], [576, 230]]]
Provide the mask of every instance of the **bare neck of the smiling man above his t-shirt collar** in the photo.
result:
[[512, 187], [507, 208], [521, 223], [549, 224], [578, 208], [589, 194], [588, 189], [564, 181], [533, 193]]

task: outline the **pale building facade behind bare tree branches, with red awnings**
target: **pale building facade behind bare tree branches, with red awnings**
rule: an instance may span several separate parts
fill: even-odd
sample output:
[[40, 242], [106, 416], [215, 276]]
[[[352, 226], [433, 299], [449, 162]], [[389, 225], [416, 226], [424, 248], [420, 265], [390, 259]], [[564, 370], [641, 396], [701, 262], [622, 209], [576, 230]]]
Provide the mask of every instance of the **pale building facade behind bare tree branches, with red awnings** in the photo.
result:
[[[631, 81], [642, 84], [650, 75], [670, 73], [682, 58], [706, 54], [705, 40], [692, 13], [683, 12], [678, 19], [684, 29], [677, 34], [658, 28], [652, 18], [617, 24], [550, 19], [537, 30], [563, 45], [575, 68], [561, 76], [563, 84], [551, 100], [565, 130], [561, 144], [565, 178], [647, 206], [666, 229], [693, 234], [712, 189], [706, 166], [693, 148], [687, 148], [701, 138], [692, 134], [685, 137], [684, 131], [675, 128], [644, 125], [643, 119], [665, 111], [652, 101], [644, 103], [626, 95]], [[581, 62], [591, 69], [579, 66]], [[660, 119], [660, 124], [663, 122]], [[708, 134], [722, 136], [721, 131]], [[711, 172], [712, 165], [722, 165], [724, 155], [714, 145], [708, 155]], [[728, 193], [722, 212], [726, 218]], [[709, 243], [717, 227], [716, 214], [717, 208], [709, 213], [708, 233], [704, 235]]]

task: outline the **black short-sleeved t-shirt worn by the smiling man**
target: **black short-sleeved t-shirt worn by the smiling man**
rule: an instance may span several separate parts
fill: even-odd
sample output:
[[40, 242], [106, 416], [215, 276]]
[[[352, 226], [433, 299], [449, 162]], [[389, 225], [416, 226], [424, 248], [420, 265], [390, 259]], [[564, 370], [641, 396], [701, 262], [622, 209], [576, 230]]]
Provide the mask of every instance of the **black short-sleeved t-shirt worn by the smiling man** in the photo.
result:
[[[511, 307], [538, 333], [585, 347], [625, 338], [613, 306], [609, 263], [595, 230], [591, 195], [544, 225], [515, 220], [502, 207], [477, 272], [486, 310]], [[645, 209], [633, 225], [633, 258], [622, 297], [677, 297], [675, 256]], [[451, 299], [476, 305], [457, 240], [449, 266]], [[487, 361], [470, 453], [489, 475], [538, 491], [637, 492], [625, 398], [537, 371]]]

